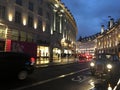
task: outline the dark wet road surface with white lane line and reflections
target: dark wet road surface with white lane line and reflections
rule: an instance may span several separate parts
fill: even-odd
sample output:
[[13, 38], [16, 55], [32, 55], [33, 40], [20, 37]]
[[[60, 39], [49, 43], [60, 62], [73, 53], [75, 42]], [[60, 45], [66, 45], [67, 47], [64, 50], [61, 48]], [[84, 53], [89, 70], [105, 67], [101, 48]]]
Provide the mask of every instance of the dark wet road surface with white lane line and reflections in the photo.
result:
[[[24, 81], [4, 79], [1, 81], [1, 90], [107, 90], [110, 80], [91, 76], [87, 63], [71, 63], [37, 68]], [[111, 79], [112, 80], [112, 79]], [[114, 79], [115, 80], [115, 79]], [[117, 79], [118, 80], [118, 79]], [[117, 81], [116, 80], [116, 81]], [[112, 82], [113, 87], [116, 82]], [[114, 83], [113, 83], [114, 82]], [[103, 89], [104, 88], [104, 89]]]

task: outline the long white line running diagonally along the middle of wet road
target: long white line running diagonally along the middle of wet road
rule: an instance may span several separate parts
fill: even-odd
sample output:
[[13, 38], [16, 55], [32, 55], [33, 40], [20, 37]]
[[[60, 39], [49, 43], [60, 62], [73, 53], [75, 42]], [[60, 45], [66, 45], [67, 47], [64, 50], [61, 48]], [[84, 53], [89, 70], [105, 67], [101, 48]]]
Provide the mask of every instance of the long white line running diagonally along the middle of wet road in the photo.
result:
[[68, 73], [68, 74], [60, 75], [60, 76], [57, 76], [57, 77], [54, 77], [54, 78], [50, 78], [48, 80], [36, 82], [36, 83], [30, 84], [30, 85], [26, 85], [26, 86], [23, 86], [23, 87], [12, 89], [12, 90], [22, 90], [22, 89], [25, 89], [25, 88], [30, 88], [30, 87], [37, 86], [37, 85], [40, 85], [40, 84], [44, 84], [44, 83], [47, 83], [47, 82], [50, 82], [50, 81], [53, 81], [53, 80], [64, 78], [66, 76], [70, 76], [70, 75], [73, 75], [73, 74], [76, 74], [76, 73], [79, 73], [79, 72], [83, 72], [83, 71], [86, 71], [86, 70], [89, 70], [89, 68], [85, 68], [85, 69], [82, 69], [82, 70], [79, 70], [79, 71], [75, 71], [75, 72], [71, 72], [71, 73]]

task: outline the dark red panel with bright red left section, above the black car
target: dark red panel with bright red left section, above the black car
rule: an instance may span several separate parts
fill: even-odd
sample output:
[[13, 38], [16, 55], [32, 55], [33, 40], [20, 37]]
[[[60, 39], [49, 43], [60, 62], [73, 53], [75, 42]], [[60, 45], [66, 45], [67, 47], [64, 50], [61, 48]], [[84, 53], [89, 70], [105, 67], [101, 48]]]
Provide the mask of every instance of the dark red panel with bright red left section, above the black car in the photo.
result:
[[0, 51], [7, 52], [23, 52], [29, 54], [36, 59], [37, 44], [33, 42], [14, 41], [7, 39], [0, 42]]

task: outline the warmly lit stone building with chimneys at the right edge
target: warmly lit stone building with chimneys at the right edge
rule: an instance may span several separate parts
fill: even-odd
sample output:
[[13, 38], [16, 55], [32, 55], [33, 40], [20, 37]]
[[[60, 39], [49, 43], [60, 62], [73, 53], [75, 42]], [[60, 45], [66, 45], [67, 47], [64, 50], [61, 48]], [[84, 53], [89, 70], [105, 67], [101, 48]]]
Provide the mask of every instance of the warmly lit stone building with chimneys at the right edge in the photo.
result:
[[103, 30], [97, 37], [96, 53], [116, 53], [120, 56], [120, 20], [110, 20], [107, 30]]

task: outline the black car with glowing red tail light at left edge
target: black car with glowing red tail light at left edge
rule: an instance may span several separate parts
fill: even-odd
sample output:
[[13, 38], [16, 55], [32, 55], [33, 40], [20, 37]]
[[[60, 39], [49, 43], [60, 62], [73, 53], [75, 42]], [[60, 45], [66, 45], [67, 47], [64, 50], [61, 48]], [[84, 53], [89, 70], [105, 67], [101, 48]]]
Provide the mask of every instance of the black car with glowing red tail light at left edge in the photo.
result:
[[0, 52], [0, 77], [16, 77], [25, 80], [32, 74], [35, 67], [35, 59], [21, 52]]

